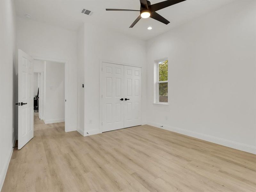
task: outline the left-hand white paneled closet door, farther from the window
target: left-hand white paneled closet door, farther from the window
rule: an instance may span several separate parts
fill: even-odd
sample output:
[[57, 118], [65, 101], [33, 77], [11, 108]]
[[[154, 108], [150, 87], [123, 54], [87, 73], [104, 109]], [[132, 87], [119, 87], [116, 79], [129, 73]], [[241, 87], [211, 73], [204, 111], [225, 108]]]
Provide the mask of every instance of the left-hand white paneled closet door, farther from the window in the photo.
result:
[[124, 128], [124, 66], [102, 63], [102, 132]]

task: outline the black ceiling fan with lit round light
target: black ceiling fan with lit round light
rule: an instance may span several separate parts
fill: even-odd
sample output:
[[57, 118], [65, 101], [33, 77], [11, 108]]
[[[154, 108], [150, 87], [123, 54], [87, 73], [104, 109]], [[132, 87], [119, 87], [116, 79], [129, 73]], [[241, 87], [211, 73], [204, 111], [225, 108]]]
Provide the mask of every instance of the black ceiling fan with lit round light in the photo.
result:
[[158, 20], [164, 24], [170, 23], [167, 19], [156, 13], [156, 11], [160, 9], [164, 9], [165, 7], [169, 7], [171, 5], [180, 3], [186, 0], [167, 0], [162, 1], [160, 3], [156, 3], [151, 5], [150, 1], [147, 0], [140, 0], [140, 10], [131, 10], [131, 9], [106, 9], [106, 11], [139, 11], [140, 16], [132, 23], [130, 28], [132, 28], [141, 18], [148, 18], [151, 17], [155, 20]]

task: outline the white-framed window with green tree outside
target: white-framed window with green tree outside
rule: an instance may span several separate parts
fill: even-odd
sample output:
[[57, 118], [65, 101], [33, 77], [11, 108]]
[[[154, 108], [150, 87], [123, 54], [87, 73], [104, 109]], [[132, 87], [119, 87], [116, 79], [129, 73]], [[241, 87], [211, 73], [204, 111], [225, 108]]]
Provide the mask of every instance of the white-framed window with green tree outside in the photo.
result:
[[156, 64], [157, 103], [168, 103], [168, 60]]

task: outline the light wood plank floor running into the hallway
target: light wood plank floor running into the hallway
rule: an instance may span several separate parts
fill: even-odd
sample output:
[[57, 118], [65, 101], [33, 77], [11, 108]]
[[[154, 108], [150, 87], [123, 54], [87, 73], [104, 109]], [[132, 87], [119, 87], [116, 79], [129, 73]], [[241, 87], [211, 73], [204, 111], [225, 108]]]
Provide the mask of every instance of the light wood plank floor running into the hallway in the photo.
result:
[[83, 137], [35, 116], [2, 192], [256, 191], [256, 156], [148, 125]]

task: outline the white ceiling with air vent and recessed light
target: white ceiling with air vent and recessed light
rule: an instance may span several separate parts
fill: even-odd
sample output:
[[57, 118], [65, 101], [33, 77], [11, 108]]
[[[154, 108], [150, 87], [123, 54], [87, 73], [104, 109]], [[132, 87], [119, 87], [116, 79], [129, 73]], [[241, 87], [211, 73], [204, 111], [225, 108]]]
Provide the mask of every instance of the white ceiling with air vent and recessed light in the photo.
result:
[[[111, 28], [121, 33], [150, 39], [171, 28], [205, 14], [233, 0], [187, 0], [157, 11], [171, 23], [165, 25], [154, 19], [141, 19], [133, 28], [129, 28], [140, 12], [106, 11], [106, 8], [140, 9], [139, 0], [22, 0], [15, 1], [19, 17], [30, 14], [31, 20], [49, 23], [76, 31], [82, 22], [93, 22], [104, 28]], [[151, 4], [161, 1], [152, 0]], [[83, 8], [93, 12], [91, 16], [81, 13]], [[152, 30], [148, 30], [152, 26]]]

